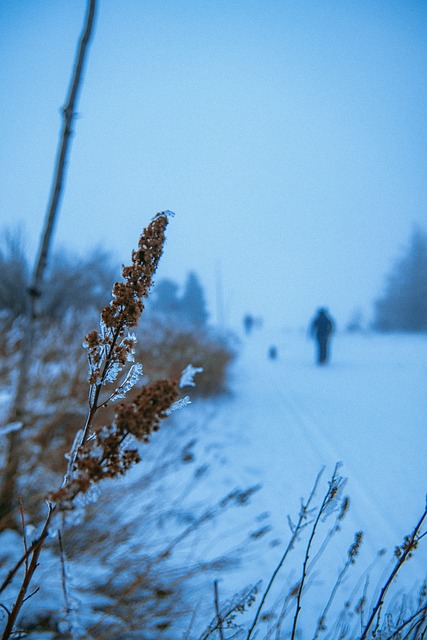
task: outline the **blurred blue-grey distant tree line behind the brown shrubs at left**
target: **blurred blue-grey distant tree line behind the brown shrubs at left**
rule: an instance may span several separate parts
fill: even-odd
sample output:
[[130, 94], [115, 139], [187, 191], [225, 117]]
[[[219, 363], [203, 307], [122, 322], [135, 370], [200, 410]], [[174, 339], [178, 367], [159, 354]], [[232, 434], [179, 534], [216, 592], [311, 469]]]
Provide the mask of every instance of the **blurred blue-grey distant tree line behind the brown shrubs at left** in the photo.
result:
[[[25, 314], [30, 286], [30, 262], [18, 228], [7, 228], [0, 234], [0, 273], [0, 314], [13, 320]], [[39, 315], [61, 320], [69, 311], [102, 308], [116, 275], [117, 265], [101, 248], [82, 256], [56, 251], [43, 285]], [[205, 327], [209, 314], [196, 273], [188, 274], [182, 294], [179, 291], [174, 280], [159, 280], [148, 303], [150, 311], [176, 325]]]

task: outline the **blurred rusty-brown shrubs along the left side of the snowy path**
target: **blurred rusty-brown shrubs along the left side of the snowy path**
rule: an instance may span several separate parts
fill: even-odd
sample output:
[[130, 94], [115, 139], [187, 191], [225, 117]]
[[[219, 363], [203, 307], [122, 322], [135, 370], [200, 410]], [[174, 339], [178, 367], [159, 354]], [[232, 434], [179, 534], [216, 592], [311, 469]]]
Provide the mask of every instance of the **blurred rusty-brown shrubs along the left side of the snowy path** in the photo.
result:
[[[27, 390], [27, 431], [20, 443], [19, 488], [27, 496], [26, 510], [31, 516], [35, 515], [34, 509], [40, 513], [40, 498], [58, 482], [76, 425], [86, 415], [87, 362], [82, 335], [94, 320], [92, 311], [70, 311], [61, 321], [39, 321]], [[4, 320], [0, 327], [0, 380], [5, 392], [11, 394], [24, 325], [19, 319], [12, 326]], [[145, 383], [158, 378], [178, 379], [191, 362], [203, 368], [193, 396], [215, 395], [227, 389], [227, 374], [236, 353], [228, 336], [216, 335], [207, 328], [186, 331], [150, 315], [137, 337], [134, 357], [143, 363]], [[135, 388], [127, 395], [132, 398]], [[102, 426], [102, 421], [112, 420], [114, 407], [114, 403], [103, 407], [102, 416], [95, 416], [94, 424]]]

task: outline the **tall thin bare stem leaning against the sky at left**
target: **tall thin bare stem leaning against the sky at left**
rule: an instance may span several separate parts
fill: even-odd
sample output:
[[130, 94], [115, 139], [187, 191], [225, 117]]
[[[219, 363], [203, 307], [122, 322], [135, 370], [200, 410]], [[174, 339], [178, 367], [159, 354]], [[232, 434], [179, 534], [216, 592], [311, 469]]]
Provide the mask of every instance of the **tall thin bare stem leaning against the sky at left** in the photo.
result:
[[[70, 148], [70, 136], [72, 133], [72, 121], [75, 117], [75, 105], [78, 92], [82, 83], [83, 69], [86, 60], [88, 44], [92, 35], [95, 19], [96, 0], [88, 0], [88, 9], [83, 32], [77, 49], [77, 57], [73, 68], [70, 89], [67, 102], [63, 109], [63, 127], [60, 136], [60, 144], [55, 163], [54, 179], [50, 193], [48, 208], [45, 218], [45, 226], [40, 243], [38, 257], [35, 263], [31, 284], [28, 289], [28, 303], [26, 325], [23, 331], [21, 350], [21, 362], [19, 377], [12, 404], [11, 422], [25, 421], [26, 397], [28, 390], [29, 369], [31, 364], [32, 345], [36, 330], [37, 306], [42, 295], [43, 278], [48, 263], [49, 249], [52, 241], [53, 229], [59, 211], [59, 204], [63, 192], [64, 178], [67, 165], [67, 157]], [[19, 469], [20, 442], [22, 430], [12, 431], [9, 434], [8, 452], [0, 487], [0, 531], [10, 526], [13, 521], [13, 507], [16, 500], [16, 484]]]

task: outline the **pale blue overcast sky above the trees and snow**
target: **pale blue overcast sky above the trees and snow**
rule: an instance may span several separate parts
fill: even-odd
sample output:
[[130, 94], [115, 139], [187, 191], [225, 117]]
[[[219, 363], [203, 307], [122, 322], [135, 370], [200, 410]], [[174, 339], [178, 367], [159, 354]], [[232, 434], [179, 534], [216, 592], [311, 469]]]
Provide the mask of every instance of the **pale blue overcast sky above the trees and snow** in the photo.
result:
[[[34, 251], [83, 0], [0, 3], [0, 221]], [[158, 273], [213, 320], [345, 326], [427, 222], [425, 0], [99, 0], [55, 247]]]

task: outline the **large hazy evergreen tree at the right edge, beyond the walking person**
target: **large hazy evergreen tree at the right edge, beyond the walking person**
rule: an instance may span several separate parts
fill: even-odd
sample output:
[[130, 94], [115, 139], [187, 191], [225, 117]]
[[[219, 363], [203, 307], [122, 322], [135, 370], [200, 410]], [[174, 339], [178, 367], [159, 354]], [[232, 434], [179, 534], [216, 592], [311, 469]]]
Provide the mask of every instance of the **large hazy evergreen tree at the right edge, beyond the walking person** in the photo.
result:
[[427, 331], [427, 234], [415, 228], [375, 302], [378, 331]]

